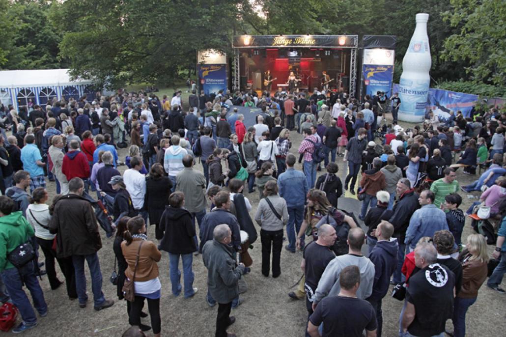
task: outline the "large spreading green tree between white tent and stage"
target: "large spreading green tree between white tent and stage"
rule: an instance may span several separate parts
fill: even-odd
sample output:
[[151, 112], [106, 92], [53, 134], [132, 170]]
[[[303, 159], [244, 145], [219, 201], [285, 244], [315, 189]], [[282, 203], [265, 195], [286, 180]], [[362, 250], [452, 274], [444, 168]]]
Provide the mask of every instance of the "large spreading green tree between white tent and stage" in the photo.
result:
[[51, 19], [66, 31], [60, 56], [71, 74], [118, 87], [170, 85], [180, 66], [196, 64], [197, 50], [231, 52], [250, 12], [247, 0], [68, 0], [53, 3]]

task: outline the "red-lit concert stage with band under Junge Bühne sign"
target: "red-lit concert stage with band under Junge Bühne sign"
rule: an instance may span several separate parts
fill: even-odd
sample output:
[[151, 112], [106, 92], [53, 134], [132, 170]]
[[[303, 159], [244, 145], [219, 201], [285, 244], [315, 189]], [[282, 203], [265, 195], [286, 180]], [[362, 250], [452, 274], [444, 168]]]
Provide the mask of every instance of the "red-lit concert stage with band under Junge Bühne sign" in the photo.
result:
[[357, 35], [241, 35], [234, 37], [233, 48], [234, 90], [273, 94], [317, 88], [355, 96]]

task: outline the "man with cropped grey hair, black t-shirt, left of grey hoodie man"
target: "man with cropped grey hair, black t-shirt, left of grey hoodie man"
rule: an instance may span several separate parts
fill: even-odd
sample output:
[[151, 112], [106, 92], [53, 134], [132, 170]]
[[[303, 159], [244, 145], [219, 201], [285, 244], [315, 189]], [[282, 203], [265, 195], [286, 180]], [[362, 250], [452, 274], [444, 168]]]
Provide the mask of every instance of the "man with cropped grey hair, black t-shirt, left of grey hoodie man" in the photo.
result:
[[318, 228], [318, 240], [309, 243], [304, 248], [301, 268], [304, 270], [306, 282], [306, 309], [309, 316], [313, 313], [313, 294], [318, 287], [321, 275], [325, 271], [328, 263], [335, 258], [334, 252], [330, 249], [336, 239], [335, 229], [328, 224], [321, 225]]

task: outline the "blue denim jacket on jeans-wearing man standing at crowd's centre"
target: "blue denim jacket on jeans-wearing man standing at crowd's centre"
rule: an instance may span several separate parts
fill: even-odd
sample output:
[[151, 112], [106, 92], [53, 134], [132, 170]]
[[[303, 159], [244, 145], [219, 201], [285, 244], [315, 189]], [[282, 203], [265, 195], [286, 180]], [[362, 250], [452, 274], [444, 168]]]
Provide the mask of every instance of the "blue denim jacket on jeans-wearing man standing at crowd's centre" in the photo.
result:
[[279, 195], [286, 200], [288, 207], [304, 205], [308, 193], [306, 175], [293, 167], [287, 168], [278, 177]]

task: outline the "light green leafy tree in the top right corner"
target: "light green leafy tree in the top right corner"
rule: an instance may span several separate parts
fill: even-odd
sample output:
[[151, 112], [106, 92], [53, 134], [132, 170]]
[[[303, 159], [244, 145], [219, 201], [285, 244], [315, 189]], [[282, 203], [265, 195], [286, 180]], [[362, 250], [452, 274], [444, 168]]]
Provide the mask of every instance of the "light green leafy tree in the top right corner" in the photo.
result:
[[504, 1], [451, 0], [445, 22], [458, 29], [444, 41], [444, 60], [464, 61], [474, 82], [506, 82], [506, 6]]

